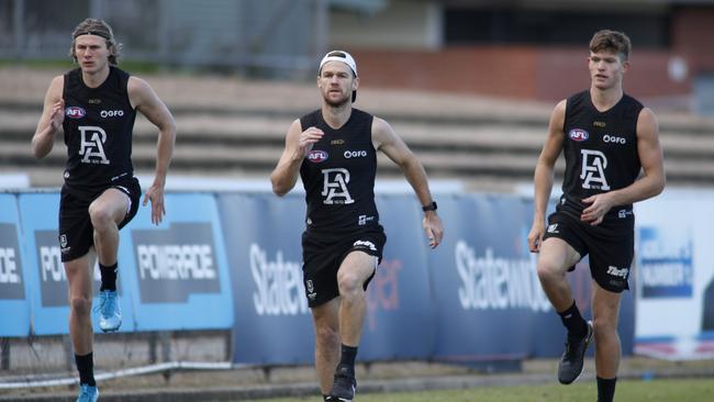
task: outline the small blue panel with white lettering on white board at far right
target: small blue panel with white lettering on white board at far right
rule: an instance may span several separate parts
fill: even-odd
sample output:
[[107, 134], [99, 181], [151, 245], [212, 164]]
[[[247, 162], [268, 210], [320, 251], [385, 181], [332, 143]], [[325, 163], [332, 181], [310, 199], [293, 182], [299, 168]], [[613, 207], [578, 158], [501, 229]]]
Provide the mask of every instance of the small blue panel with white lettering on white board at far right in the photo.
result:
[[693, 246], [690, 236], [666, 236], [656, 227], [639, 228], [638, 279], [643, 298], [691, 298]]

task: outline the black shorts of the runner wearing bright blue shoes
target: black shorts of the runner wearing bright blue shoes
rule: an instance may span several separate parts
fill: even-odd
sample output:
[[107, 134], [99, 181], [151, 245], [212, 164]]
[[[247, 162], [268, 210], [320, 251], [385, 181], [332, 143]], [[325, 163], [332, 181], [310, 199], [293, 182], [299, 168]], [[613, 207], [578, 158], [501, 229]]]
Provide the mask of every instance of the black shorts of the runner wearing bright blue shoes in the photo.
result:
[[122, 228], [138, 211], [142, 188], [136, 178], [121, 179], [112, 186], [91, 190], [77, 190], [63, 186], [59, 199], [58, 236], [63, 263], [85, 256], [94, 244], [94, 227], [89, 217], [89, 204], [110, 188], [122, 191], [132, 201], [126, 216], [119, 224], [119, 228]]

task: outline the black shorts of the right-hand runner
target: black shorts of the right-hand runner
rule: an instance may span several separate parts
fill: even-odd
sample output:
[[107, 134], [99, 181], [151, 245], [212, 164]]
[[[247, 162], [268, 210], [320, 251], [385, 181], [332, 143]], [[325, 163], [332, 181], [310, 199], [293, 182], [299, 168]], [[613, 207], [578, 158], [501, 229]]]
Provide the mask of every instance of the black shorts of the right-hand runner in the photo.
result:
[[615, 293], [629, 289], [627, 278], [635, 256], [634, 217], [593, 226], [557, 211], [548, 216], [543, 239], [549, 237], [568, 243], [580, 258], [590, 255], [590, 275], [601, 288]]

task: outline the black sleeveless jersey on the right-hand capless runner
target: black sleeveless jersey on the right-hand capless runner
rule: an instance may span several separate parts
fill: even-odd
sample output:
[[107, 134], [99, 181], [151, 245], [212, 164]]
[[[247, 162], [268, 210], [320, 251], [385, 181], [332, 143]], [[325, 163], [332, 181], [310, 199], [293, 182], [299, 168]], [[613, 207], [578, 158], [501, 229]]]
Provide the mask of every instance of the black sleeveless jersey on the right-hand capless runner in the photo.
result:
[[[623, 94], [610, 110], [600, 112], [590, 91], [567, 100], [564, 125], [566, 172], [564, 197], [558, 205], [578, 219], [584, 205], [580, 201], [593, 194], [622, 189], [639, 175], [637, 119], [643, 105]], [[633, 217], [632, 204], [613, 206], [610, 219]]]

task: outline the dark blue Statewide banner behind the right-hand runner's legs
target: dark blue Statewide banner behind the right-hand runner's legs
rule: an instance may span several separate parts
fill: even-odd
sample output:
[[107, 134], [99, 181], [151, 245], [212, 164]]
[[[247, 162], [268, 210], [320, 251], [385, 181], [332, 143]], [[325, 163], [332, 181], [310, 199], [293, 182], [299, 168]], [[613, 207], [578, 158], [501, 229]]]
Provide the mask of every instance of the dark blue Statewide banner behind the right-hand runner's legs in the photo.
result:
[[[429, 260], [437, 308], [434, 358], [478, 362], [562, 353], [565, 330], [540, 288], [536, 256], [527, 249], [532, 204], [509, 196], [442, 198], [445, 242]], [[585, 316], [590, 272], [569, 275]], [[620, 334], [632, 351], [633, 301], [623, 298]], [[591, 350], [592, 353], [592, 350]]]

